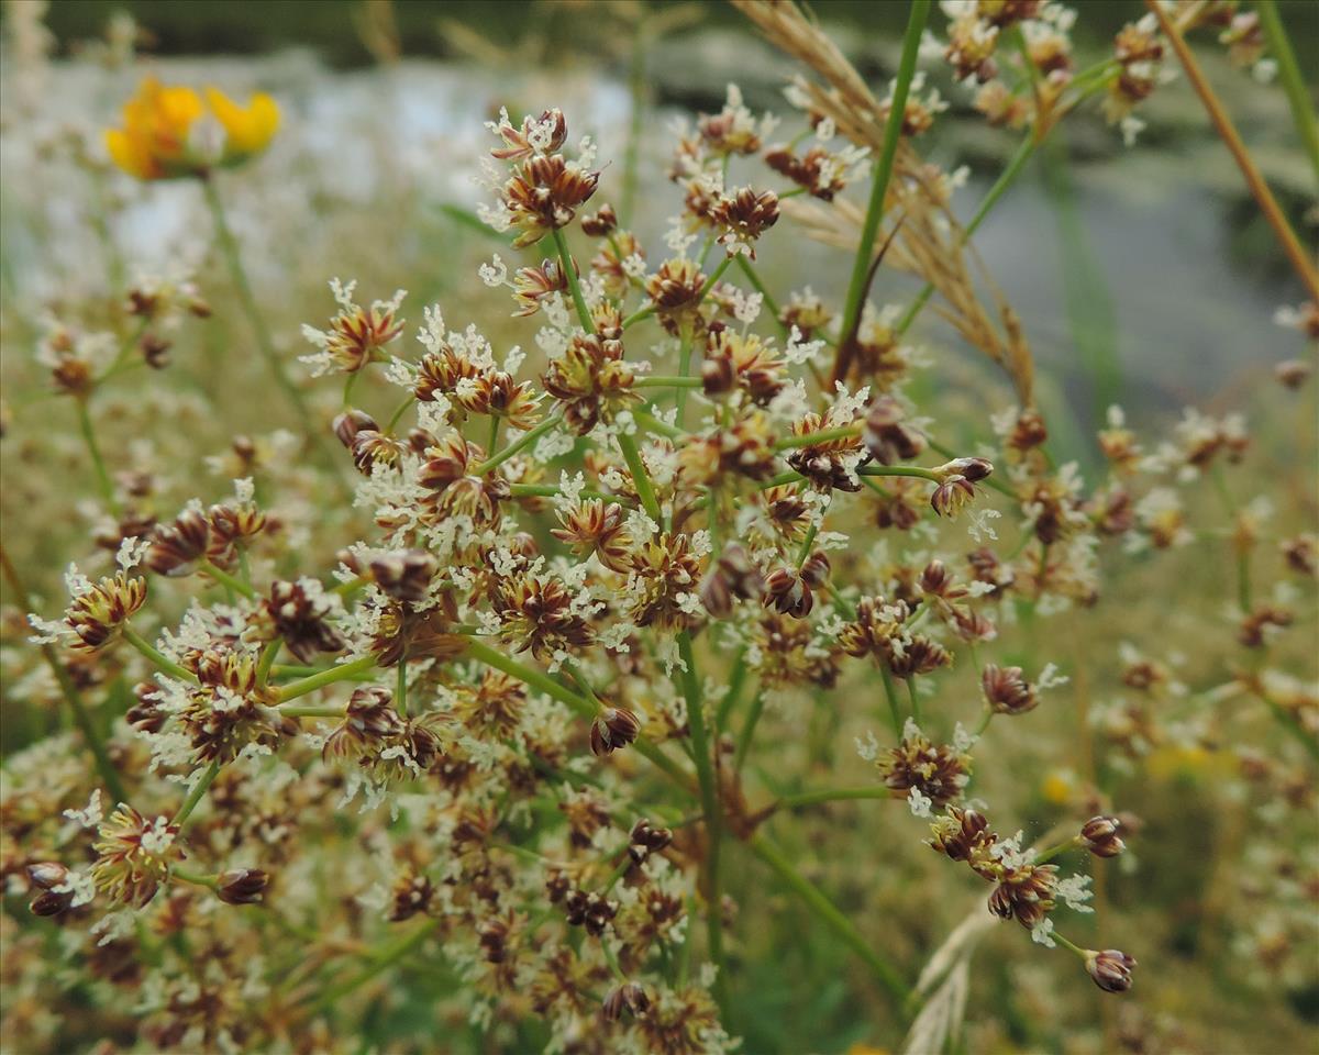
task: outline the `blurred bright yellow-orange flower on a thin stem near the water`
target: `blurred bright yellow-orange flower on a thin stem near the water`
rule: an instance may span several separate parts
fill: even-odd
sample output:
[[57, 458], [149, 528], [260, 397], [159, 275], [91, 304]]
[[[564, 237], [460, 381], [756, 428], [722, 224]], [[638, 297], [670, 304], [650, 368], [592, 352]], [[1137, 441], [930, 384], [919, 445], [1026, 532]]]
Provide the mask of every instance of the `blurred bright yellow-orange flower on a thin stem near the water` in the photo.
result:
[[138, 179], [204, 175], [261, 153], [280, 127], [280, 108], [264, 92], [240, 107], [219, 88], [142, 80], [124, 104], [123, 128], [106, 131], [111, 160]]

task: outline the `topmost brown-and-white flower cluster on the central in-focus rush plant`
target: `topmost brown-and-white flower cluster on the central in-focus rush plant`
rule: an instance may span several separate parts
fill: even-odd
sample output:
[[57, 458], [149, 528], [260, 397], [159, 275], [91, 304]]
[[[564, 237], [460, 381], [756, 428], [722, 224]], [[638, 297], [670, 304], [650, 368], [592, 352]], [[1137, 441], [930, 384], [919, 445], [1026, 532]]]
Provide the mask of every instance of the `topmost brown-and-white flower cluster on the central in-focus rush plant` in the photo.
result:
[[576, 210], [595, 194], [600, 174], [558, 153], [567, 140], [563, 113], [547, 109], [539, 117], [528, 116], [521, 128], [514, 128], [505, 112], [497, 124], [488, 127], [505, 144], [491, 150], [491, 156], [513, 162], [513, 167], [499, 190], [503, 211], [483, 210], [483, 219], [501, 231], [517, 228], [514, 247], [532, 245], [567, 227]]

